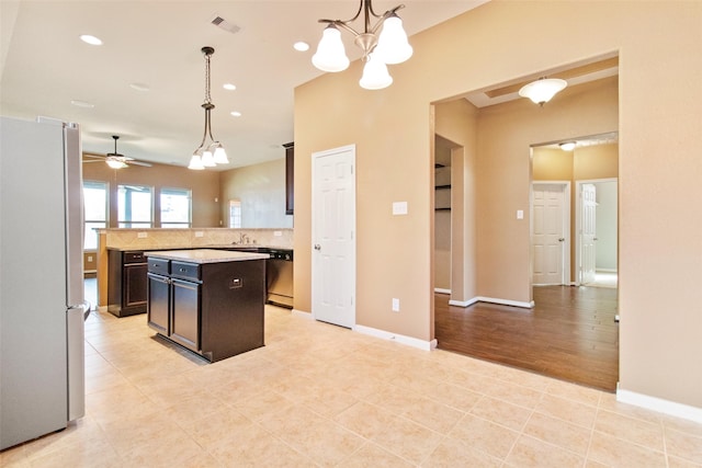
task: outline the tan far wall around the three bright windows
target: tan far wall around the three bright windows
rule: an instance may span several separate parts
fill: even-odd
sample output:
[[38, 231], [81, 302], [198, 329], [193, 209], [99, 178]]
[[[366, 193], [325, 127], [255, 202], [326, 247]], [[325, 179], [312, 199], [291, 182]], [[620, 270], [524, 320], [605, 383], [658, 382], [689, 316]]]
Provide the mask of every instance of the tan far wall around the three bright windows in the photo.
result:
[[117, 185], [139, 184], [154, 187], [155, 217], [160, 221], [159, 194], [162, 187], [190, 189], [192, 191], [192, 227], [219, 226], [219, 173], [214, 171], [192, 171], [168, 164], [150, 168], [129, 165], [110, 169], [103, 162], [83, 163], [83, 180], [110, 183], [110, 226], [117, 227]]

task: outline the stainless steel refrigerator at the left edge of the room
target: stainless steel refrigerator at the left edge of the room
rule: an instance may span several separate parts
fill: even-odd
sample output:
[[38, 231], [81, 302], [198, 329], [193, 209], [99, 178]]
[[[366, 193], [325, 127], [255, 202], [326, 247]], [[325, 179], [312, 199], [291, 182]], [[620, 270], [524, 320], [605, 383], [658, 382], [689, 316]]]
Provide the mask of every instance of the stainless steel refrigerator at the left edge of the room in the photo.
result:
[[80, 130], [0, 121], [0, 449], [84, 414]]

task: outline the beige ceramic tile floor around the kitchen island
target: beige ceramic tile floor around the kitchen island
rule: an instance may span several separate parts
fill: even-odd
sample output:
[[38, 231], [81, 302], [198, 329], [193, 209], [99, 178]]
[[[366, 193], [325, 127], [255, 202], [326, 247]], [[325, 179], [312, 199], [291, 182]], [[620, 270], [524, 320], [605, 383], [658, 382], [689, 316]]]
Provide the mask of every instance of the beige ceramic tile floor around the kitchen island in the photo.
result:
[[702, 424], [267, 306], [267, 346], [205, 364], [146, 317], [86, 323], [87, 415], [3, 467], [700, 467]]

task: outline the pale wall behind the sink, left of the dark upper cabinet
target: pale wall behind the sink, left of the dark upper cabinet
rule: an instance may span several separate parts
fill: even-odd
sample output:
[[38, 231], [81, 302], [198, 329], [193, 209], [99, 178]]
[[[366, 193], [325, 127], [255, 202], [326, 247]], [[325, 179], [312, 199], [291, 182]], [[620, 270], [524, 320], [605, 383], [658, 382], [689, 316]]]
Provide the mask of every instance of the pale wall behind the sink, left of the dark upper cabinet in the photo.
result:
[[285, 215], [285, 158], [222, 172], [222, 214], [228, 227], [229, 199], [241, 202], [241, 227], [292, 228]]

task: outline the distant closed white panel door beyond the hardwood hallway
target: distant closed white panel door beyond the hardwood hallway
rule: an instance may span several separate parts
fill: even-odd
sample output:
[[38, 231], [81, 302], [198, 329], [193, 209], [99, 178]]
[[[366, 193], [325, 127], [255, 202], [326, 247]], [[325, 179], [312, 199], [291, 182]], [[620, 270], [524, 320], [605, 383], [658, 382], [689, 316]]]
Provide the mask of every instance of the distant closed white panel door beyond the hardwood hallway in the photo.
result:
[[563, 284], [565, 185], [534, 183], [532, 232], [532, 283]]

